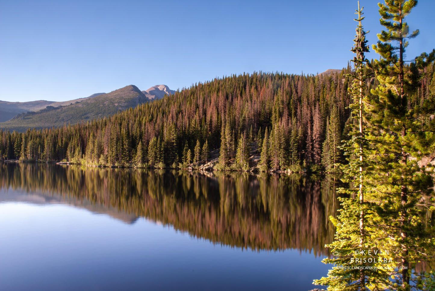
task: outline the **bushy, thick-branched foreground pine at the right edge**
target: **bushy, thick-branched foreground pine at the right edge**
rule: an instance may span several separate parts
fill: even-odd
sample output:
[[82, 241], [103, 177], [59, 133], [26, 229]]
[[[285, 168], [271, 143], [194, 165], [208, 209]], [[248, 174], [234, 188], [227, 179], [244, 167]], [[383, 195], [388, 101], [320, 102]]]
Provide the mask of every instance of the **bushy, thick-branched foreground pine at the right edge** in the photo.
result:
[[[375, 240], [378, 249], [388, 249], [399, 260], [400, 270], [391, 271], [391, 286], [396, 290], [418, 288], [412, 268], [432, 255], [432, 227], [424, 224], [432, 205], [432, 167], [418, 163], [434, 152], [433, 100], [422, 106], [412, 104], [422, 72], [434, 60], [434, 52], [423, 53], [405, 62], [410, 32], [405, 17], [417, 5], [416, 0], [385, 0], [379, 4], [381, 25], [378, 43], [373, 49], [380, 55], [371, 68], [379, 86], [371, 90], [367, 102], [367, 143], [370, 149], [365, 181], [377, 202], [372, 223], [382, 231]], [[422, 207], [422, 204], [425, 207]]]

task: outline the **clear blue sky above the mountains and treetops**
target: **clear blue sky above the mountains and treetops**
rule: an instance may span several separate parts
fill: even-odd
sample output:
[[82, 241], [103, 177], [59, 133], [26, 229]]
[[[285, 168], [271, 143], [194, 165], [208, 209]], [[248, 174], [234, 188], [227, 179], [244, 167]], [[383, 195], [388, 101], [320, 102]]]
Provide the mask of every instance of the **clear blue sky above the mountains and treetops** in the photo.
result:
[[[369, 43], [378, 0], [361, 0]], [[356, 0], [0, 0], [0, 100], [70, 100], [134, 84], [177, 90], [231, 74], [347, 66]], [[414, 58], [435, 48], [433, 0], [407, 21]], [[369, 58], [376, 58], [371, 53]]]

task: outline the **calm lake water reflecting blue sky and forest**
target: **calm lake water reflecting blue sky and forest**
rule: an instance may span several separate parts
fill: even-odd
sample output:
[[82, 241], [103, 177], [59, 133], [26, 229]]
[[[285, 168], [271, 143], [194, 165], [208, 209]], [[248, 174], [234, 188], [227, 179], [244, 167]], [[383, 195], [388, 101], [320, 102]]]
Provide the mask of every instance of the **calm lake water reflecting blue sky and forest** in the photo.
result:
[[0, 290], [294, 290], [330, 266], [333, 180], [0, 163]]

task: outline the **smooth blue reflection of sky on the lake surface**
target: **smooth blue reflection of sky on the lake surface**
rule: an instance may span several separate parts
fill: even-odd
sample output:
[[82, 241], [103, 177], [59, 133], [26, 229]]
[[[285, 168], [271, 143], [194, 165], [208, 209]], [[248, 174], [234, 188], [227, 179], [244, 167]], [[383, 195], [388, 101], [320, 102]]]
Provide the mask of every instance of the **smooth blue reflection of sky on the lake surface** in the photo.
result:
[[242, 251], [66, 204], [0, 203], [0, 229], [0, 290], [307, 291], [328, 271], [309, 253]]

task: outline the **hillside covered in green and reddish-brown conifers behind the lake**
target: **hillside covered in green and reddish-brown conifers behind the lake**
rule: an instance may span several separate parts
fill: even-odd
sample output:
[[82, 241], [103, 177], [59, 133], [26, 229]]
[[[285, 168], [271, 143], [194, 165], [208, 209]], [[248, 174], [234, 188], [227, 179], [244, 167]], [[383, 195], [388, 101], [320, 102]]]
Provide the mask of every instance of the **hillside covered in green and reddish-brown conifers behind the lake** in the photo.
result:
[[[255, 72], [217, 78], [107, 118], [24, 133], [1, 130], [0, 156], [185, 167], [201, 163], [219, 148], [222, 169], [248, 169], [252, 154], [261, 155], [261, 170], [331, 168], [343, 160], [338, 146], [347, 137], [345, 124], [351, 122], [346, 73], [351, 73], [349, 66], [330, 75]], [[409, 102], [418, 104], [435, 91], [432, 75], [430, 66]], [[367, 89], [376, 82], [369, 79]], [[89, 114], [92, 106], [117, 104], [90, 103]]]

